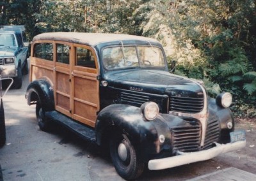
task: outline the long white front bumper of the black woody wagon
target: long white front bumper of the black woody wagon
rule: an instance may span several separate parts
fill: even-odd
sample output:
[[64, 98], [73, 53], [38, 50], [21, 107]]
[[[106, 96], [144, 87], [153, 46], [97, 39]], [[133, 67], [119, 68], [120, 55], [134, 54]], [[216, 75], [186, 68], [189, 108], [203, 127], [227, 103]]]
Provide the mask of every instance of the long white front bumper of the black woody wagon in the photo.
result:
[[234, 143], [220, 144], [215, 143], [216, 147], [209, 150], [202, 150], [199, 152], [178, 152], [178, 156], [167, 157], [163, 159], [153, 159], [148, 162], [149, 170], [162, 170], [166, 168], [173, 168], [183, 164], [195, 163], [198, 161], [205, 161], [212, 159], [220, 154], [238, 150], [245, 147], [246, 141], [237, 141]]

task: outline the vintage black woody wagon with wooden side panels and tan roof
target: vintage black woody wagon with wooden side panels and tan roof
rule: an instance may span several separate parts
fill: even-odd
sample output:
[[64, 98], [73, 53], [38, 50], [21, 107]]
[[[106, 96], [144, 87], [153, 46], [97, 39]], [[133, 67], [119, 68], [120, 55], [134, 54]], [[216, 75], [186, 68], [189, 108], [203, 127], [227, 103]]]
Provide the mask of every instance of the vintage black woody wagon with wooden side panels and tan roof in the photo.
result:
[[44, 33], [33, 38], [26, 99], [40, 129], [59, 122], [109, 147], [118, 174], [204, 161], [245, 146], [228, 108], [202, 82], [168, 71], [162, 45], [125, 34]]

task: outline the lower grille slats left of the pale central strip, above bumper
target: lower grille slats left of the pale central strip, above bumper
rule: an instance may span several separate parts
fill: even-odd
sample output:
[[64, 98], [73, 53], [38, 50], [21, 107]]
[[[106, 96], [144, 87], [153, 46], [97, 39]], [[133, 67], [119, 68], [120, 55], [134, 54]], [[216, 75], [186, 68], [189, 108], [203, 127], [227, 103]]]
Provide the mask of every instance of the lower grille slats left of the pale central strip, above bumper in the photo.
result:
[[181, 152], [195, 152], [200, 149], [200, 124], [196, 120], [189, 120], [186, 126], [172, 128], [173, 154]]

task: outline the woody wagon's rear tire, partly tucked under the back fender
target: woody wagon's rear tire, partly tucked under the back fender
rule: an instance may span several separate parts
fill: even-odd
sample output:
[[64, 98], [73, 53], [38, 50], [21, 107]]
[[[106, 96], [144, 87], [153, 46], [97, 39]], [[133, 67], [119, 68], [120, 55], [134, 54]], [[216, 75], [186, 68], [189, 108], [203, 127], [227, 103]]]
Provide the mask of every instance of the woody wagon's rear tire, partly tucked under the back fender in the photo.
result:
[[45, 117], [45, 111], [39, 99], [36, 101], [36, 120], [38, 121], [38, 126], [42, 131], [50, 131], [50, 122]]

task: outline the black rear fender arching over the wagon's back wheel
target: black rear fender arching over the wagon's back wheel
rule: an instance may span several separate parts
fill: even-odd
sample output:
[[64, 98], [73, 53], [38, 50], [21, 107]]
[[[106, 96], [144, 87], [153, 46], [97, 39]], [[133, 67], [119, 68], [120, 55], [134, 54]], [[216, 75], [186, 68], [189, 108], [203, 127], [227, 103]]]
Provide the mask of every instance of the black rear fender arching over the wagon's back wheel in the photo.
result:
[[54, 110], [54, 92], [51, 81], [47, 80], [47, 78], [40, 78], [29, 83], [26, 99], [29, 106], [40, 99], [45, 112]]

